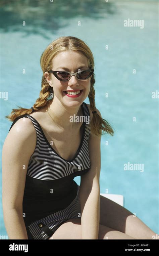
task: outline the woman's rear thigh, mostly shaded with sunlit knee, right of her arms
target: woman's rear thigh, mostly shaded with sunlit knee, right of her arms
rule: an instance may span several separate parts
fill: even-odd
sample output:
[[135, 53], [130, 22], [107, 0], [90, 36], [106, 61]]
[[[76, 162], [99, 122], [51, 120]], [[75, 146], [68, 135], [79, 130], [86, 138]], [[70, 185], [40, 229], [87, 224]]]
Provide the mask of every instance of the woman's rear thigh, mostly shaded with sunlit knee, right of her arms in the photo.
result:
[[152, 239], [155, 233], [136, 214], [100, 195], [100, 224], [136, 239]]

